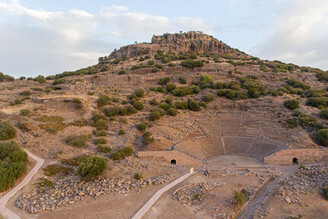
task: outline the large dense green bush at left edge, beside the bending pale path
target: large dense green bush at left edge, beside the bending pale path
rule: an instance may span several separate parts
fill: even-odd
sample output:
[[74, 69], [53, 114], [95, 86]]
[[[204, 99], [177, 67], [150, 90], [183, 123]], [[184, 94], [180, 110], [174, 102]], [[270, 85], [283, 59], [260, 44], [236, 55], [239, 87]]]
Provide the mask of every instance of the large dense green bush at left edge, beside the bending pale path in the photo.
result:
[[0, 143], [0, 192], [13, 186], [26, 170], [27, 154], [15, 142]]

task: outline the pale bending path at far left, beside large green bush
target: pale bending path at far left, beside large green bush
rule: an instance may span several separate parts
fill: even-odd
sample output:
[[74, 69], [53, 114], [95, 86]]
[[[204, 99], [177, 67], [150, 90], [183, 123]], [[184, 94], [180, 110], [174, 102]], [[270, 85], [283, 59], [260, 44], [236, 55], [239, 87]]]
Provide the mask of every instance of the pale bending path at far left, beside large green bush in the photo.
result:
[[8, 219], [18, 219], [20, 218], [17, 214], [15, 214], [14, 212], [12, 212], [11, 210], [9, 210], [8, 208], [6, 208], [6, 204], [9, 201], [9, 199], [11, 197], [13, 197], [16, 192], [18, 192], [19, 190], [21, 190], [25, 185], [27, 185], [31, 179], [33, 178], [33, 176], [36, 174], [36, 172], [38, 172], [38, 170], [42, 167], [44, 160], [37, 157], [36, 155], [32, 154], [31, 152], [25, 150], [27, 155], [32, 158], [33, 160], [35, 160], [37, 163], [36, 165], [33, 167], [33, 169], [24, 177], [24, 179], [13, 189], [11, 189], [9, 192], [7, 192], [1, 199], [0, 199], [0, 214], [2, 214], [2, 216], [4, 218], [8, 218]]

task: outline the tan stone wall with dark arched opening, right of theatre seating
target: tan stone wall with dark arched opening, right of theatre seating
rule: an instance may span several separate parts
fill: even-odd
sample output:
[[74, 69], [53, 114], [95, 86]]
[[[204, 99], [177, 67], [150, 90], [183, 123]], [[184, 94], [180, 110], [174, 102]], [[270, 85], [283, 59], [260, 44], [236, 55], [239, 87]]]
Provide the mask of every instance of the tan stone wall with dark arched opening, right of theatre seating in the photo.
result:
[[[296, 159], [295, 159], [296, 158]], [[292, 165], [328, 161], [328, 149], [286, 149], [264, 158], [266, 164]]]

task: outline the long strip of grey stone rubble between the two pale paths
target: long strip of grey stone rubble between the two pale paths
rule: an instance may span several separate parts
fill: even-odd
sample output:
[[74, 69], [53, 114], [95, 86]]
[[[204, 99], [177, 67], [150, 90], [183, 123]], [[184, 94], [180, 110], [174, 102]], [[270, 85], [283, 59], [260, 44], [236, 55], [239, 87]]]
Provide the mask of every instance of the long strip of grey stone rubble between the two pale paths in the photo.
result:
[[78, 176], [58, 180], [43, 193], [23, 194], [16, 200], [16, 206], [32, 214], [53, 211], [58, 207], [69, 206], [86, 197], [99, 197], [105, 194], [127, 194], [132, 190], [140, 192], [147, 185], [160, 185], [175, 179], [174, 175], [162, 175], [150, 179], [95, 179], [84, 181]]

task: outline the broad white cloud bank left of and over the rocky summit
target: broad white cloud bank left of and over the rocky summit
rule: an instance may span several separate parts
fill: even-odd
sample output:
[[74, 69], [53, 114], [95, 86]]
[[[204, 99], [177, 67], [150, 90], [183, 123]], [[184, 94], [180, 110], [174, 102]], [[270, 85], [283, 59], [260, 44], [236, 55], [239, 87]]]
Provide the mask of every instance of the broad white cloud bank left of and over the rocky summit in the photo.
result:
[[91, 14], [77, 8], [35, 10], [18, 0], [0, 0], [0, 71], [18, 77], [75, 70], [119, 47], [112, 42], [149, 40], [152, 34], [179, 30], [210, 31], [211, 25], [201, 18], [169, 19], [120, 5]]

